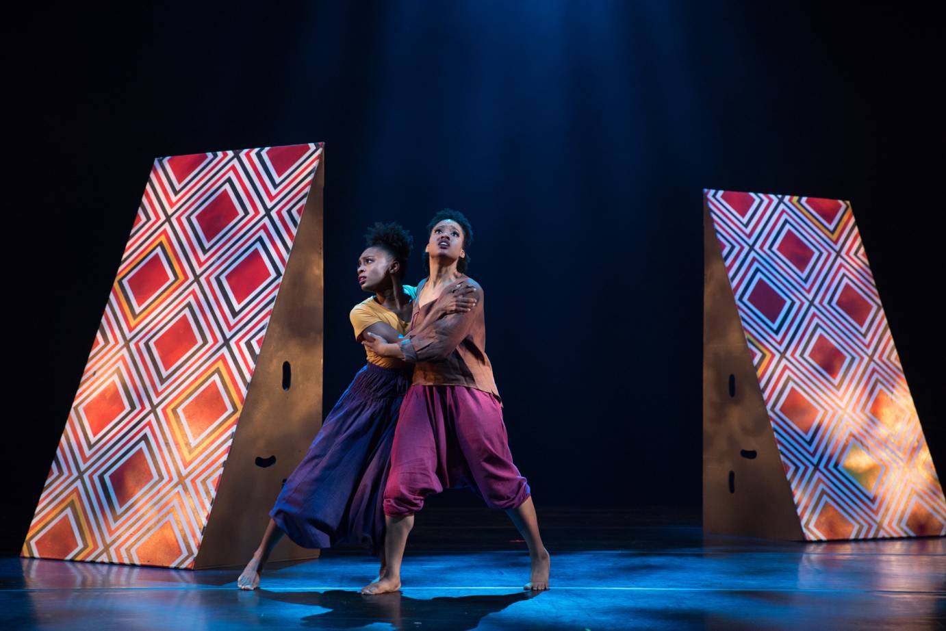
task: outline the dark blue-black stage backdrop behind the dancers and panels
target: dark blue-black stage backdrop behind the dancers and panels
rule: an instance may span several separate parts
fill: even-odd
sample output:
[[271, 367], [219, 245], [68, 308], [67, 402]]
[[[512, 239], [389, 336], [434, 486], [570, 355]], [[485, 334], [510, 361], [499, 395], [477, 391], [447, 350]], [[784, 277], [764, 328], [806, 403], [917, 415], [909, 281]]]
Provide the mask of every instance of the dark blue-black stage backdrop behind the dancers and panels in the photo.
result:
[[9, 58], [4, 552], [26, 534], [152, 160], [213, 149], [327, 143], [326, 411], [363, 362], [347, 312], [364, 228], [397, 219], [423, 243], [439, 208], [469, 216], [488, 352], [540, 508], [698, 508], [703, 187], [850, 199], [946, 466], [935, 16], [144, 4], [44, 5]]

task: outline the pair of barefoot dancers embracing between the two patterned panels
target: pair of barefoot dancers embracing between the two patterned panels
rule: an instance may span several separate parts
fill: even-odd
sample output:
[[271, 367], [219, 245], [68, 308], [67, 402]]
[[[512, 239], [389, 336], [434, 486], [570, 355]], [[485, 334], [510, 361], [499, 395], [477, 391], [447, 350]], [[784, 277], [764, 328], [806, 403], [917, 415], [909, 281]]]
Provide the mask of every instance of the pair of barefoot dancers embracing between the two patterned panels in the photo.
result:
[[429, 275], [403, 285], [412, 237], [376, 224], [359, 257], [361, 289], [374, 295], [350, 313], [366, 365], [325, 418], [289, 476], [237, 587], [255, 589], [283, 535], [306, 548], [359, 543], [380, 559], [363, 594], [401, 587], [413, 516], [445, 488], [469, 487], [506, 511], [529, 548], [524, 589], [549, 588], [529, 484], [519, 475], [485, 353], [482, 287], [464, 272], [473, 229], [464, 215], [431, 219], [424, 260]]

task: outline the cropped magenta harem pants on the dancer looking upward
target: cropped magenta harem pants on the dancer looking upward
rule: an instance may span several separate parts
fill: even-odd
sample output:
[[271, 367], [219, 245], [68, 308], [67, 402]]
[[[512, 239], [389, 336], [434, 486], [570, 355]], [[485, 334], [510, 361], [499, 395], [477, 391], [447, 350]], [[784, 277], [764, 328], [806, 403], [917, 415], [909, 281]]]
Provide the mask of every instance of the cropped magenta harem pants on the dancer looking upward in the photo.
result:
[[517, 508], [529, 499], [499, 401], [464, 386], [411, 386], [394, 429], [384, 513], [412, 515], [430, 494], [458, 486], [473, 488], [490, 508]]

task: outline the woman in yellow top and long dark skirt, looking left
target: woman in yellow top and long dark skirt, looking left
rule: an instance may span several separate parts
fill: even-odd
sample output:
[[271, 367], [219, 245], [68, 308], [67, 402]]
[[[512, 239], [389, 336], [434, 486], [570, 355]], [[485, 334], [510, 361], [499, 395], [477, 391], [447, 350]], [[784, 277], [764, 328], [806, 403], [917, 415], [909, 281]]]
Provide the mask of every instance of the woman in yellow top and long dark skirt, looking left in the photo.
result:
[[[402, 285], [412, 237], [396, 223], [376, 223], [366, 237], [358, 264], [361, 289], [374, 295], [350, 313], [355, 338], [372, 333], [397, 342], [410, 327], [417, 290]], [[475, 305], [463, 283], [446, 301], [444, 313]], [[383, 558], [384, 485], [401, 399], [411, 385], [411, 368], [399, 359], [367, 351], [368, 362], [325, 417], [306, 457], [292, 472], [270, 512], [259, 547], [236, 581], [255, 589], [272, 548], [282, 535], [306, 548], [360, 543]], [[385, 574], [382, 560], [380, 576]]]

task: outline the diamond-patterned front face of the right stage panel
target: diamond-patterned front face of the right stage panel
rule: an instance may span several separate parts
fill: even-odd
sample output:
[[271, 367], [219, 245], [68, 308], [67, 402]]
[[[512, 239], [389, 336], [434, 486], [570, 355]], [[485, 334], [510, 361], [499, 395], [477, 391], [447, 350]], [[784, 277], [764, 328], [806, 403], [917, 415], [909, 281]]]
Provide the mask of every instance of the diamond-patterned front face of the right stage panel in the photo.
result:
[[805, 537], [946, 535], [850, 202], [705, 195]]

